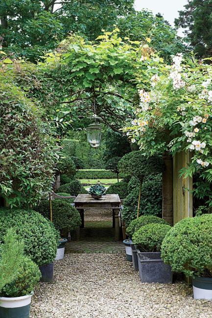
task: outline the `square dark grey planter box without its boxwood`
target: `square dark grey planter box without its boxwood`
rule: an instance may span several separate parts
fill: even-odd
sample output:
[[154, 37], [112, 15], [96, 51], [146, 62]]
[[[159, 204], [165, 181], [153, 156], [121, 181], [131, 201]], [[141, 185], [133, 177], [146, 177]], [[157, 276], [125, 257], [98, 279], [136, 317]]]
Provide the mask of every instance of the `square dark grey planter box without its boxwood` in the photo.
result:
[[172, 283], [171, 267], [161, 259], [161, 252], [143, 253], [137, 250], [139, 275], [143, 283]]

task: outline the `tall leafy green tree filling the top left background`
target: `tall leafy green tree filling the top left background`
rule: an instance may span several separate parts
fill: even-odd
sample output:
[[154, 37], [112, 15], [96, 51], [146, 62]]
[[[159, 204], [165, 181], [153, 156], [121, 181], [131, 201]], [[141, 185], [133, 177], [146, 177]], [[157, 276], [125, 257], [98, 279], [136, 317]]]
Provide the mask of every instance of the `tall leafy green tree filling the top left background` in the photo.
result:
[[134, 0], [0, 0], [0, 42], [32, 61], [71, 31], [94, 40], [133, 10]]

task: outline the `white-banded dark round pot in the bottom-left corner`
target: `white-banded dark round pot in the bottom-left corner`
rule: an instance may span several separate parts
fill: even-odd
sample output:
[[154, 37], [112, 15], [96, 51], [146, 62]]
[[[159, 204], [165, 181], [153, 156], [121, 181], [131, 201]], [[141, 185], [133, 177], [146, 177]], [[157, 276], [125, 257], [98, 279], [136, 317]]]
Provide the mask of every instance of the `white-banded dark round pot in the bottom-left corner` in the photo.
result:
[[29, 318], [31, 295], [21, 297], [0, 297], [1, 318]]

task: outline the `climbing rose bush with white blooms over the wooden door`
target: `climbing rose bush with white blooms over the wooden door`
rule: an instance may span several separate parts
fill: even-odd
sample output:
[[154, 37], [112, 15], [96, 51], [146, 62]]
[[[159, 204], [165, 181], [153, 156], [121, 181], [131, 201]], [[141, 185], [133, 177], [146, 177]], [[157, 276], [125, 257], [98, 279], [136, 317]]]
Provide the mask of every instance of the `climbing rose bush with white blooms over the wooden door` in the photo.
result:
[[181, 174], [198, 174], [204, 185], [197, 184], [196, 194], [210, 192], [212, 199], [212, 66], [179, 53], [150, 83], [148, 91], [139, 91], [135, 119], [124, 131], [147, 156], [190, 151], [191, 162]]

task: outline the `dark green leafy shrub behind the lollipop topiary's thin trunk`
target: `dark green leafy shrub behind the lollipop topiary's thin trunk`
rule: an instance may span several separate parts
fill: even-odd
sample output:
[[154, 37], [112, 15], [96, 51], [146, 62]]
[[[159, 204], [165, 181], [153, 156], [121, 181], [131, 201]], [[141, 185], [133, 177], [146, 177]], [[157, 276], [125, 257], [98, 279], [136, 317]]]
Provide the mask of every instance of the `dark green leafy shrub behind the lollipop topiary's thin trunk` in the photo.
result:
[[[129, 189], [129, 188], [128, 188]], [[128, 226], [136, 218], [139, 187], [134, 188], [124, 200], [122, 217]], [[141, 188], [140, 215], [162, 215], [162, 178], [161, 175], [146, 180]]]

